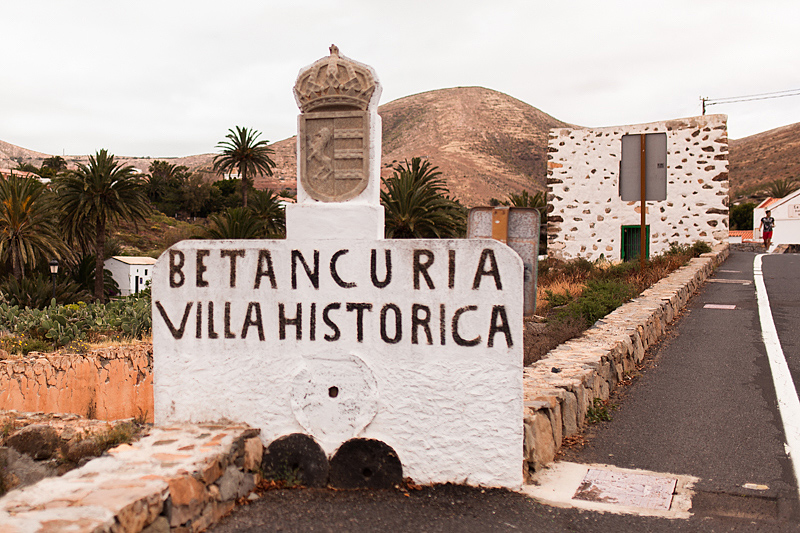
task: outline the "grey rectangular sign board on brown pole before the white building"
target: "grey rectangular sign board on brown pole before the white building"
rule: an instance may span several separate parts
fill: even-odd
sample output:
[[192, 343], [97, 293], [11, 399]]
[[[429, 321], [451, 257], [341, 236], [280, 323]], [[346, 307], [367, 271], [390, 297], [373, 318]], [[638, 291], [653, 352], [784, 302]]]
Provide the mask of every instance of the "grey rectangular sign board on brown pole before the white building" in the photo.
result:
[[[619, 164], [619, 194], [625, 202], [642, 199], [641, 135], [622, 136], [622, 160]], [[645, 134], [645, 199], [667, 199], [667, 134]]]

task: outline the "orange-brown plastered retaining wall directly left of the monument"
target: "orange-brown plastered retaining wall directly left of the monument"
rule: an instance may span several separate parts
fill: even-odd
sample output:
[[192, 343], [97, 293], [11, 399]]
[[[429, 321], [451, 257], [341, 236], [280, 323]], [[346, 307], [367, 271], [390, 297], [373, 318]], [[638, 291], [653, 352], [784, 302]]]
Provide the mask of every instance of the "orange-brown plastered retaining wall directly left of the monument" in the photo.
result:
[[0, 410], [153, 421], [153, 345], [0, 361]]

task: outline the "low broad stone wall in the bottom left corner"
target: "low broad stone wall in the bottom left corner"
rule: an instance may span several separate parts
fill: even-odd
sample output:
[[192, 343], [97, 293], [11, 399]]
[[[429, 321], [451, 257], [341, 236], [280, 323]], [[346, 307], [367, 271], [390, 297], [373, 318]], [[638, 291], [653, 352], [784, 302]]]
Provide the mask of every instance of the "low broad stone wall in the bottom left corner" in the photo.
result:
[[258, 430], [154, 428], [61, 477], [0, 498], [3, 533], [203, 531], [258, 481]]

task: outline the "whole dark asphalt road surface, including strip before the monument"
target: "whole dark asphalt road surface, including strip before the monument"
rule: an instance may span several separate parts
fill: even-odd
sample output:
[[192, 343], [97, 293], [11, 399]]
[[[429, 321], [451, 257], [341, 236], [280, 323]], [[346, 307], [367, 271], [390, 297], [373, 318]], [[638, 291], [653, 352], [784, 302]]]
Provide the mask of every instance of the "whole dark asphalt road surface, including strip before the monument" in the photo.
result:
[[[733, 253], [612, 398], [610, 422], [560, 457], [701, 478], [689, 520], [540, 505], [503, 490], [276, 490], [211, 531], [800, 531], [753, 285], [753, 259]], [[800, 383], [800, 256], [764, 258], [776, 327]], [[735, 309], [706, 308], [735, 305]], [[743, 485], [766, 485], [751, 490]]]

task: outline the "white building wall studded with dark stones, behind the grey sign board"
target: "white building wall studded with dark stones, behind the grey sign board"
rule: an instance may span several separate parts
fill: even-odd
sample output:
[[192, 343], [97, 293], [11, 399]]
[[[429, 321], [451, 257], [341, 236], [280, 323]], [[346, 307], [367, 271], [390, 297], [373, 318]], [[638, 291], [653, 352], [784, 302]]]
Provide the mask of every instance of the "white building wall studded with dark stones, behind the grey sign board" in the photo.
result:
[[[666, 199], [648, 201], [649, 254], [670, 243], [728, 239], [728, 132], [725, 115], [550, 131], [548, 254], [560, 259], [626, 258], [624, 236], [639, 234], [640, 202], [620, 195], [622, 136], [666, 133]], [[638, 238], [637, 238], [638, 239]], [[638, 250], [638, 246], [637, 246]]]

